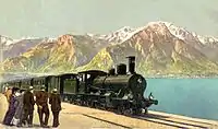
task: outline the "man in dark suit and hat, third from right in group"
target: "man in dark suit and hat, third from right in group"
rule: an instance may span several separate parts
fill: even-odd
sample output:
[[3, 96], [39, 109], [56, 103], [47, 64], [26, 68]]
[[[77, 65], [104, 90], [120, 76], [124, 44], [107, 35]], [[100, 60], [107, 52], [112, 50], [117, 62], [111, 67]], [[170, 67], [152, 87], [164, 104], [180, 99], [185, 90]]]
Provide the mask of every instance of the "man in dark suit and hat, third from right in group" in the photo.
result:
[[35, 105], [33, 92], [34, 92], [34, 87], [29, 86], [23, 96], [24, 117], [23, 117], [22, 122], [26, 124], [27, 121], [29, 127], [33, 126], [34, 105]]

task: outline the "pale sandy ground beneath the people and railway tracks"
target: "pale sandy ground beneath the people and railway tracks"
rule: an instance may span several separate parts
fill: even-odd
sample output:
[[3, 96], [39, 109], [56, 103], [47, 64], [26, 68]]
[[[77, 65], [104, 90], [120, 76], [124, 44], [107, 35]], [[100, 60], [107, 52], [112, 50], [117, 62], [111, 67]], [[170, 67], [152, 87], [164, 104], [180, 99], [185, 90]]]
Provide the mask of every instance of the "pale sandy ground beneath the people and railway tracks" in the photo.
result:
[[[8, 104], [0, 94], [0, 120], [2, 121]], [[114, 113], [81, 107], [62, 103], [59, 129], [174, 129], [174, 128], [218, 128], [218, 122], [213, 120], [195, 119], [165, 113], [149, 112], [147, 117], [131, 118]], [[39, 125], [37, 110], [34, 113], [34, 124]], [[49, 126], [52, 124], [50, 114]], [[0, 125], [0, 129], [5, 126]], [[15, 127], [8, 127], [13, 129]]]

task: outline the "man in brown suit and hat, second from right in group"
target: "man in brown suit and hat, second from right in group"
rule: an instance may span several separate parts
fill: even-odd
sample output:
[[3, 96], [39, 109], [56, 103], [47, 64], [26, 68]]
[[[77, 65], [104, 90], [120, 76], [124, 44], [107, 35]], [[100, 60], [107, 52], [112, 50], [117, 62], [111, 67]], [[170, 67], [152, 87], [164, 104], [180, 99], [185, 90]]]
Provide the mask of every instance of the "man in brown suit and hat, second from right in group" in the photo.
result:
[[48, 127], [49, 119], [48, 93], [45, 90], [46, 87], [43, 85], [41, 90], [36, 93], [36, 105], [38, 106], [38, 116], [41, 127]]

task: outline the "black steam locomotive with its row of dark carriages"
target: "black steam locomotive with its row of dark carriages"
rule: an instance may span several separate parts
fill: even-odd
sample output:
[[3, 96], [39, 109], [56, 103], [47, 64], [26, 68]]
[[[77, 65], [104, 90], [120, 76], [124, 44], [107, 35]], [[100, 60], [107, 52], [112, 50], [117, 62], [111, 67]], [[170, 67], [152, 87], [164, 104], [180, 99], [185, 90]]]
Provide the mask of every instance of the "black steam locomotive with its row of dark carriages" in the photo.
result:
[[[26, 90], [29, 85], [37, 92], [41, 86], [47, 92], [57, 89], [63, 102], [75, 105], [112, 110], [122, 115], [147, 114], [148, 107], [158, 105], [150, 93], [144, 96], [147, 81], [135, 72], [135, 57], [129, 56], [129, 71], [125, 63], [108, 72], [87, 70], [77, 73], [63, 73], [19, 79], [3, 82], [2, 85]], [[3, 86], [1, 86], [3, 87]]]

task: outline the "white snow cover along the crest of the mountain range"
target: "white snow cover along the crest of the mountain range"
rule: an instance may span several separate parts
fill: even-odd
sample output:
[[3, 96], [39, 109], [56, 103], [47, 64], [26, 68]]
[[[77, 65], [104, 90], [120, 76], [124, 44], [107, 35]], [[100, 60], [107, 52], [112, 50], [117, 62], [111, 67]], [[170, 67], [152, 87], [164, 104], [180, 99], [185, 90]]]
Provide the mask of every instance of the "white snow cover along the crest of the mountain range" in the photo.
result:
[[[93, 39], [102, 39], [107, 40], [109, 43], [114, 43], [114, 44], [120, 44], [129, 38], [131, 38], [133, 35], [137, 34], [141, 31], [144, 31], [146, 28], [154, 28], [154, 31], [166, 34], [166, 33], [171, 33], [174, 37], [182, 39], [186, 43], [191, 42], [198, 42], [201, 44], [217, 44], [218, 38], [215, 38], [213, 36], [199, 36], [196, 33], [189, 32], [184, 27], [180, 27], [174, 25], [173, 23], [170, 22], [162, 22], [162, 21], [156, 21], [156, 22], [149, 22], [147, 25], [138, 27], [138, 28], [132, 28], [130, 26], [123, 26], [120, 30], [112, 32], [108, 35], [99, 35], [99, 34], [89, 34], [86, 33], [86, 36], [89, 36]], [[20, 39], [11, 39], [7, 36], [1, 36], [1, 43], [4, 45], [11, 45], [15, 44], [17, 42], [21, 42], [23, 39], [44, 39], [44, 42], [55, 42], [58, 38], [50, 38], [50, 37], [45, 37], [45, 38], [39, 38], [39, 37], [22, 37]]]

